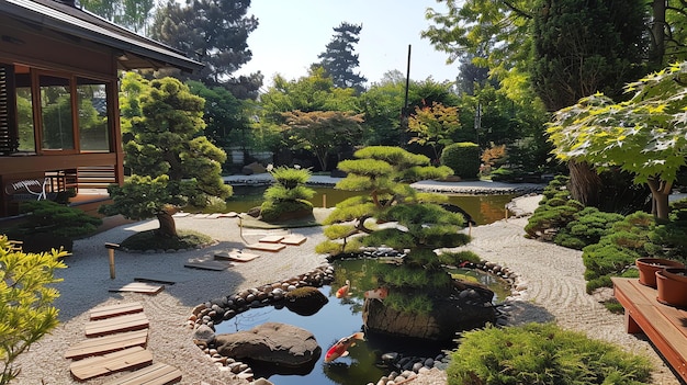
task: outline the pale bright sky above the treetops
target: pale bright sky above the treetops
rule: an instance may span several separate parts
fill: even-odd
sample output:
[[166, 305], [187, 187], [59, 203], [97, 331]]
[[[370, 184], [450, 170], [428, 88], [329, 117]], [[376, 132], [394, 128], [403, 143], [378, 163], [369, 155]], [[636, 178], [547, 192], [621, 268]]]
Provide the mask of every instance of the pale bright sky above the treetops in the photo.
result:
[[446, 53], [433, 49], [420, 32], [430, 22], [427, 8], [446, 10], [436, 0], [251, 0], [248, 15], [258, 27], [248, 36], [252, 59], [234, 75], [260, 70], [264, 84], [275, 73], [288, 80], [307, 76], [311, 64], [326, 49], [334, 27], [342, 22], [361, 24], [354, 45], [360, 66], [356, 72], [368, 78], [368, 86], [397, 69], [405, 76], [410, 45], [410, 79], [455, 80], [458, 64], [447, 65]]

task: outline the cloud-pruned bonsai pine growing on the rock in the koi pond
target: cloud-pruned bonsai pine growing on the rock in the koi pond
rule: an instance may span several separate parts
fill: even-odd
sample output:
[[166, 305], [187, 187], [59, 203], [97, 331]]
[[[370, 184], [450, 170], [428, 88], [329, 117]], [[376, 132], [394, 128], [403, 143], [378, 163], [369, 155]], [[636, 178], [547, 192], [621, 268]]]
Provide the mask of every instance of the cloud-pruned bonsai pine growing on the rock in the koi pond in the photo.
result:
[[[399, 265], [380, 263], [376, 278], [390, 287], [385, 304], [402, 312], [426, 313], [431, 307], [429, 297], [451, 288], [451, 276], [442, 265], [455, 263], [460, 257], [433, 250], [465, 245], [470, 237], [460, 233], [463, 216], [441, 206], [448, 200], [446, 195], [417, 192], [408, 183], [442, 179], [453, 171], [446, 166], [429, 166], [428, 157], [398, 147], [367, 147], [354, 156], [358, 159], [339, 162], [338, 168], [348, 175], [336, 188], [370, 194], [336, 206], [325, 220], [330, 225], [325, 229], [329, 240], [318, 245], [317, 251], [335, 257], [364, 247], [407, 251]], [[381, 226], [383, 223], [395, 226]]]

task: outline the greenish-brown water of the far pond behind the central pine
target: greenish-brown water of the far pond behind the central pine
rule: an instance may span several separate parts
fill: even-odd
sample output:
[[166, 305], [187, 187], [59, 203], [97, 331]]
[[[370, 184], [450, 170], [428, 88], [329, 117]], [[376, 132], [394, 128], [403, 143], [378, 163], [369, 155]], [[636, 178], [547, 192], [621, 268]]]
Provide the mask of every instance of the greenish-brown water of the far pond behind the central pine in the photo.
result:
[[[234, 186], [234, 195], [227, 201], [226, 211], [245, 213], [252, 207], [261, 205], [264, 189], [266, 186]], [[361, 194], [360, 192], [336, 190], [334, 188], [312, 189], [315, 190], [315, 196], [311, 200], [314, 207], [334, 207], [346, 199]], [[449, 203], [463, 208], [477, 225], [486, 225], [505, 218], [506, 204], [518, 196], [517, 194], [446, 195], [449, 196]]]

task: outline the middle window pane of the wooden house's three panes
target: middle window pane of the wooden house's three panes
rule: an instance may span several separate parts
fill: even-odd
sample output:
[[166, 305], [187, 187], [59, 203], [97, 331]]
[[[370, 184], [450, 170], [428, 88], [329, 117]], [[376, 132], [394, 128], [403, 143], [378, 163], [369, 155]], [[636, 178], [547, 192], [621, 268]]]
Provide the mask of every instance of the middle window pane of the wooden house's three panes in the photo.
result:
[[40, 87], [43, 149], [74, 149], [69, 79], [42, 75]]

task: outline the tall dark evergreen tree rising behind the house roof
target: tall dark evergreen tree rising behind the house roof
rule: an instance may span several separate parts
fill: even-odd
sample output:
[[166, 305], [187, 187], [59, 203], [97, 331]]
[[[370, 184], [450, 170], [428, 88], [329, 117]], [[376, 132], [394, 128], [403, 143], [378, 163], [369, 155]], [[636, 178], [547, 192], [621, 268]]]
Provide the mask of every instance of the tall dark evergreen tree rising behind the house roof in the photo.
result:
[[232, 77], [252, 56], [247, 39], [258, 20], [246, 15], [249, 7], [250, 0], [192, 0], [185, 4], [169, 0], [158, 10], [150, 35], [205, 64], [198, 73], [182, 77], [229, 91], [236, 88], [240, 90], [237, 98], [255, 97], [262, 86], [259, 72]]

